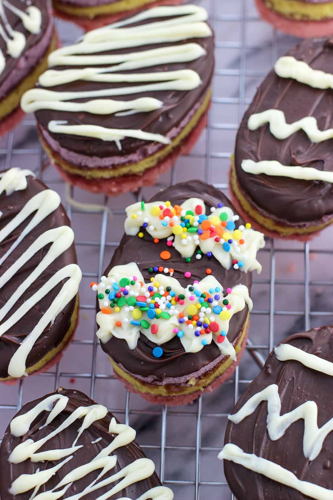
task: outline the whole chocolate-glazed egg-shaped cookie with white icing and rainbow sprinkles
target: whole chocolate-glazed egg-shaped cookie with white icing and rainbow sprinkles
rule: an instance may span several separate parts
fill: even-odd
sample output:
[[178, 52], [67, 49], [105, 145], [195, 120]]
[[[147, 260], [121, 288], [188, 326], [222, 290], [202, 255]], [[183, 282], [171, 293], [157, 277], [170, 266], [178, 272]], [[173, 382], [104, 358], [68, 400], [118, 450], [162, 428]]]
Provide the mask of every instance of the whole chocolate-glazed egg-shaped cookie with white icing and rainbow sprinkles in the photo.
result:
[[[160, 200], [163, 200], [163, 202]], [[180, 214], [182, 207], [186, 207], [187, 210], [190, 209], [190, 205], [194, 210], [192, 213], [196, 213], [196, 210], [198, 213], [200, 212], [200, 222], [197, 225], [195, 220], [192, 220], [192, 223], [195, 223], [195, 225], [187, 222], [188, 227], [185, 228], [188, 232], [186, 234], [191, 234], [193, 240], [188, 240], [187, 246], [183, 244], [179, 246], [177, 244], [179, 241], [178, 238], [180, 238], [179, 228], [183, 229], [179, 225], [181, 217], [178, 215], [171, 217], [169, 211], [171, 208]], [[161, 206], [162, 209], [160, 208]], [[104, 273], [104, 282], [102, 281], [100, 283], [101, 286], [98, 286], [101, 312], [97, 315], [97, 322], [100, 326], [97, 334], [101, 338], [102, 349], [110, 356], [116, 373], [127, 382], [130, 381], [131, 385], [129, 386], [132, 389], [134, 387], [134, 389], [138, 390], [149, 400], [159, 402], [164, 399], [168, 401], [168, 404], [181, 404], [184, 401], [194, 399], [200, 390], [204, 390], [205, 388], [212, 390], [212, 382], [215, 381], [215, 386], [217, 386], [218, 381], [221, 383], [223, 381], [222, 377], [226, 378], [235, 369], [236, 363], [240, 358], [240, 355], [236, 357], [236, 353], [241, 347], [244, 348], [245, 346], [249, 305], [250, 307], [252, 305], [248, 295], [251, 290], [251, 271], [254, 269], [261, 270], [261, 266], [256, 259], [256, 252], [258, 248], [263, 246], [264, 241], [261, 233], [244, 227], [244, 221], [238, 217], [237, 213], [234, 214], [233, 210], [230, 201], [221, 191], [201, 181], [176, 184], [158, 193], [149, 203], [143, 203], [142, 206], [140, 203], [136, 203], [126, 210], [125, 230], [127, 234], [124, 234], [122, 237], [120, 245], [116, 249]], [[169, 217], [165, 215], [165, 219], [163, 216], [166, 213], [169, 213]], [[144, 221], [145, 215], [147, 215], [147, 221]], [[194, 216], [199, 219], [199, 215]], [[178, 223], [175, 217], [178, 217]], [[167, 220], [169, 220], [169, 223], [167, 223]], [[184, 216], [183, 220], [186, 220]], [[241, 227], [241, 229], [236, 228], [234, 221], [237, 222], [237, 227]], [[169, 225], [170, 222], [173, 224], [172, 226]], [[156, 230], [152, 229], [151, 224], [156, 224]], [[201, 229], [201, 227], [206, 227], [205, 224], [209, 227], [214, 227], [214, 231], [210, 233], [212, 236], [208, 239], [206, 238], [207, 231]], [[215, 225], [212, 226], [212, 224]], [[139, 237], [134, 236], [135, 232], [138, 233]], [[154, 233], [157, 237], [155, 237]], [[221, 236], [218, 234], [221, 234]], [[173, 237], [175, 238], [174, 241], [172, 241]], [[198, 243], [196, 248], [192, 248], [193, 253], [190, 256], [192, 251], [190, 245], [197, 237], [200, 238], [200, 245]], [[236, 245], [232, 243], [231, 238], [233, 237]], [[236, 240], [236, 238], [238, 239]], [[185, 247], [188, 252], [187, 257], [181, 253]], [[244, 249], [241, 247], [244, 247]], [[234, 253], [237, 251], [239, 251], [238, 259], [235, 258], [236, 253]], [[245, 257], [246, 253], [248, 253], [247, 258]], [[145, 296], [141, 298], [148, 300], [148, 302], [150, 300], [149, 297], [158, 291], [158, 286], [155, 290], [154, 283], [151, 283], [152, 286], [149, 286], [149, 284], [151, 280], [155, 280], [155, 275], [158, 272], [161, 273], [156, 280], [158, 280], [159, 284], [165, 280], [164, 288], [166, 290], [166, 297], [168, 296], [168, 292], [171, 293], [169, 298], [166, 298], [166, 301], [169, 303], [167, 303], [166, 308], [164, 307], [161, 312], [162, 318], [165, 311], [171, 310], [172, 312], [172, 308], [174, 308], [173, 286], [175, 286], [178, 292], [175, 294], [176, 302], [178, 300], [177, 296], [181, 297], [180, 302], [177, 302], [176, 306], [177, 308], [181, 305], [179, 310], [180, 316], [178, 317], [177, 314], [174, 314], [171, 316], [171, 319], [166, 319], [166, 322], [162, 320], [159, 326], [164, 329], [169, 320], [174, 321], [170, 325], [168, 332], [165, 332], [165, 336], [163, 336], [163, 332], [162, 341], [160, 338], [157, 338], [160, 335], [159, 333], [156, 337], [148, 334], [156, 318], [154, 313], [151, 312], [153, 304], [149, 303], [146, 306], [150, 310], [144, 313], [147, 314], [148, 318], [145, 315], [140, 316], [142, 319], [145, 319], [143, 320], [143, 328], [140, 326], [140, 334], [134, 346], [131, 344], [131, 341], [128, 341], [129, 339], [125, 332], [117, 334], [116, 324], [111, 327], [113, 334], [110, 334], [109, 321], [115, 321], [115, 315], [113, 310], [114, 304], [112, 300], [109, 302], [110, 297], [114, 294], [112, 285], [111, 290], [109, 289], [109, 279], [114, 278], [114, 273], [119, 273], [120, 281], [118, 278], [116, 280], [120, 282], [121, 286], [121, 278], [126, 273], [126, 266], [131, 265], [129, 264], [130, 262], [136, 262], [137, 271], [141, 274], [140, 278], [136, 276], [137, 281], [147, 283], [146, 288], [148, 291], [146, 290], [144, 293], [140, 292], [139, 295], [141, 297], [141, 295], [146, 293], [148, 298]], [[135, 267], [130, 267], [129, 272], [135, 273]], [[170, 273], [172, 278], [167, 278], [167, 275], [170, 276]], [[107, 276], [111, 277], [107, 278]], [[208, 283], [209, 279], [211, 279], [210, 283]], [[124, 279], [123, 283], [125, 282], [127, 283], [126, 279]], [[200, 309], [200, 318], [203, 318], [203, 320], [199, 321], [199, 323], [197, 321], [198, 324], [196, 324], [199, 312], [197, 314], [192, 311], [196, 307], [194, 304], [198, 303], [198, 295], [196, 294], [198, 290], [195, 287], [198, 286], [198, 289], [201, 289], [200, 283], [202, 282], [204, 283], [202, 284], [202, 291], [205, 291], [205, 299], [208, 300], [208, 302], [205, 301], [207, 312], [203, 314]], [[128, 290], [124, 290], [125, 297], [133, 295], [135, 286], [131, 288], [129, 285]], [[97, 289], [97, 285], [95, 285], [95, 288]], [[180, 288], [183, 288], [183, 292], [181, 292]], [[238, 299], [236, 299], [235, 295], [232, 297], [230, 295], [229, 304], [226, 296], [234, 292], [237, 293], [237, 290], [240, 291], [242, 298], [237, 308], [231, 309], [230, 304], [233, 301], [236, 303]], [[110, 292], [111, 295], [109, 295]], [[119, 295], [121, 295], [120, 292], [118, 292]], [[185, 304], [182, 294], [184, 295]], [[190, 295], [192, 295], [191, 298], [189, 298]], [[202, 302], [204, 301], [203, 297], [200, 296], [199, 298]], [[106, 302], [105, 299], [107, 299]], [[124, 302], [125, 307], [131, 303], [128, 300], [126, 302], [125, 298], [121, 298], [120, 300], [121, 303]], [[133, 305], [135, 305], [135, 300], [131, 300]], [[182, 300], [183, 304], [181, 303]], [[117, 306], [117, 304], [115, 305]], [[225, 310], [222, 311], [222, 309]], [[121, 309], [119, 314], [122, 313], [122, 310], [125, 309]], [[144, 311], [145, 308], [142, 310]], [[188, 313], [188, 311], [192, 312]], [[229, 311], [231, 311], [231, 314], [229, 314]], [[228, 321], [230, 319], [228, 327], [226, 323], [223, 323], [225, 327], [222, 327], [222, 331], [224, 331], [224, 334], [226, 333], [225, 328], [228, 331], [227, 337], [224, 336], [223, 340], [219, 334], [221, 331], [220, 326], [223, 325], [218, 325], [218, 327], [216, 319], [211, 317], [212, 314], [219, 317], [220, 313], [222, 316], [228, 316]], [[174, 320], [176, 316], [178, 319]], [[184, 321], [182, 320], [183, 317], [185, 317]], [[117, 320], [120, 322], [127, 319], [127, 317], [117, 317]], [[161, 321], [159, 318], [157, 319], [157, 322]], [[191, 329], [188, 327], [188, 320], [189, 323], [193, 321]], [[148, 322], [149, 327], [147, 326]], [[214, 323], [212, 328], [215, 329], [214, 336], [217, 338], [217, 341], [213, 341], [212, 331], [207, 331], [206, 333], [203, 331], [203, 333], [199, 334], [199, 337], [196, 335], [195, 328], [199, 328], [199, 330], [206, 328], [209, 330], [209, 325], [205, 325], [205, 323], [210, 322]], [[153, 327], [153, 330], [154, 328], [156, 326]], [[180, 332], [177, 331], [177, 334], [175, 334], [173, 328], [176, 330], [179, 329]], [[190, 334], [187, 338], [189, 332]], [[186, 340], [184, 337], [186, 337]], [[194, 347], [192, 344], [192, 346], [187, 345], [187, 341], [189, 343], [192, 341], [202, 341], [204, 344], [201, 346], [198, 344]], [[226, 347], [227, 344], [228, 348]], [[226, 350], [222, 349], [221, 351], [222, 345]], [[156, 347], [158, 347], [157, 352], [154, 351]], [[161, 352], [159, 349], [163, 351], [163, 354], [156, 356], [156, 353]], [[228, 368], [229, 371], [227, 371]]]

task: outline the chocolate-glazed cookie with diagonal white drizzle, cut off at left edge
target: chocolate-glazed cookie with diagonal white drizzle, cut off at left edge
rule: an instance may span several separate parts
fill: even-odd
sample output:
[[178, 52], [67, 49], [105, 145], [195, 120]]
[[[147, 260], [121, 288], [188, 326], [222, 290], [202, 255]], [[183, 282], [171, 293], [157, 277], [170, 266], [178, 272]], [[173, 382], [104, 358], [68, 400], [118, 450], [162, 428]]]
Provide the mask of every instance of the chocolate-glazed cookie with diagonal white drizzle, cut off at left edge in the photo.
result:
[[45, 369], [73, 335], [81, 271], [59, 195], [0, 172], [0, 380]]

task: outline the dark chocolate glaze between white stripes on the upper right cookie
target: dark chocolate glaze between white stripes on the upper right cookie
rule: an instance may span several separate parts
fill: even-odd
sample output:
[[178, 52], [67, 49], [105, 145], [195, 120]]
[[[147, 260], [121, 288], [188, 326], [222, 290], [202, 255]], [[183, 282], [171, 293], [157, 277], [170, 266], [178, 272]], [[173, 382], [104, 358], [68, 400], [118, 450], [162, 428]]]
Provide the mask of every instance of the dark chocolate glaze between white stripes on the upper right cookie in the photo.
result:
[[[286, 55], [307, 62], [314, 69], [332, 73], [333, 41], [305, 40]], [[323, 181], [246, 173], [243, 159], [278, 160], [283, 165], [301, 165], [333, 171], [333, 139], [311, 142], [300, 130], [284, 140], [270, 132], [269, 124], [251, 131], [251, 114], [266, 109], [284, 111], [287, 123], [315, 116], [321, 130], [333, 127], [333, 90], [321, 90], [279, 77], [274, 69], [268, 74], [246, 111], [240, 125], [235, 149], [238, 182], [249, 201], [264, 215], [290, 225], [312, 225], [332, 217], [333, 185]]]

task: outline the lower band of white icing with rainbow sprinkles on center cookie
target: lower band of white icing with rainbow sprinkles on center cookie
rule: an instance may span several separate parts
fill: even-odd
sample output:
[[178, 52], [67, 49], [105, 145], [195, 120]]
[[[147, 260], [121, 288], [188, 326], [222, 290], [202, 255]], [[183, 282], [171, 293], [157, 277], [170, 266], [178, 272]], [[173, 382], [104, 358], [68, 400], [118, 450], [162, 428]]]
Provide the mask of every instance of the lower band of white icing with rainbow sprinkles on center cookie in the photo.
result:
[[[150, 285], [153, 295], [147, 291]], [[249, 290], [243, 284], [228, 288], [226, 296], [223, 286], [212, 275], [187, 288], [163, 274], [157, 274], [153, 282], [146, 284], [135, 262], [113, 267], [95, 288], [101, 308], [96, 316], [97, 336], [104, 343], [112, 335], [124, 338], [130, 349], [136, 347], [141, 331], [157, 345], [177, 335], [186, 352], [198, 352], [214, 341], [221, 354], [236, 360], [235, 348], [227, 338], [229, 322], [246, 305], [252, 309]], [[113, 302], [117, 292], [121, 296]], [[207, 302], [210, 294], [219, 298]], [[189, 315], [193, 321], [188, 321]]]

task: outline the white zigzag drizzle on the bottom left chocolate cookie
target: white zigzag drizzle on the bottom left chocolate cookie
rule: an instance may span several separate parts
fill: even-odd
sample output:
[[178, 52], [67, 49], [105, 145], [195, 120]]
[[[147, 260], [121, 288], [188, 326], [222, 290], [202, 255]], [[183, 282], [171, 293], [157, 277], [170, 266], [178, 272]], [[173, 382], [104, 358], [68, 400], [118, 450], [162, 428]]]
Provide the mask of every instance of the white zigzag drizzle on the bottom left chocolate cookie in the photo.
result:
[[[43, 427], [47, 427], [52, 423], [54, 418], [61, 413], [61, 411], [66, 407], [68, 397], [61, 394], [53, 394], [46, 397], [41, 402], [39, 402], [34, 408], [28, 412], [19, 415], [12, 419], [10, 423], [10, 432], [16, 437], [23, 436], [30, 428], [33, 420], [43, 411], [49, 411], [49, 415]], [[117, 450], [121, 446], [126, 446], [135, 439], [135, 430], [128, 425], [117, 423], [115, 418], [111, 419], [109, 425], [109, 433], [116, 434], [116, 437], [112, 442], [103, 448], [90, 462], [84, 465], [73, 468], [68, 472], [60, 481], [51, 489], [44, 492], [38, 493], [38, 489], [44, 485], [47, 489], [48, 480], [57, 473], [58, 476], [61, 474], [61, 467], [70, 462], [76, 453], [81, 453], [84, 455], [84, 446], [77, 444], [80, 442], [81, 434], [90, 427], [95, 421], [102, 419], [107, 414], [107, 408], [101, 404], [93, 404], [91, 406], [79, 406], [76, 408], [69, 416], [62, 422], [61, 425], [56, 427], [54, 430], [49, 432], [45, 437], [33, 441], [32, 439], [26, 439], [19, 443], [11, 452], [9, 456], [9, 461], [11, 463], [20, 463], [24, 460], [30, 458], [33, 462], [48, 461], [59, 461], [56, 465], [43, 470], [37, 469], [33, 474], [21, 474], [18, 476], [10, 486], [10, 493], [12, 495], [18, 495], [25, 491], [32, 490], [30, 499], [35, 500], [56, 500], [57, 498], [63, 498], [67, 489], [75, 481], [87, 476], [90, 472], [94, 470], [100, 470], [100, 473], [96, 479], [92, 480], [88, 486], [86, 486], [82, 491], [79, 491], [73, 495], [66, 496], [71, 500], [79, 500], [79, 498], [88, 497], [91, 498], [93, 491], [98, 490], [104, 486], [110, 485], [110, 489], [96, 498], [96, 500], [107, 500], [111, 496], [115, 495], [123, 488], [128, 487], [135, 482], [145, 479], [151, 476], [155, 470], [154, 462], [148, 458], [138, 458], [134, 460], [129, 465], [125, 466], [118, 472], [109, 475], [103, 479], [103, 476], [110, 472], [110, 470], [117, 463], [117, 456], [111, 455], [113, 451]], [[36, 452], [41, 446], [43, 446], [52, 437], [65, 432], [66, 428], [75, 423], [78, 419], [83, 418], [82, 424], [78, 429], [77, 437], [72, 444], [72, 447], [67, 449], [51, 449], [41, 452]], [[61, 438], [59, 436], [59, 441]], [[83, 449], [82, 449], [83, 448]], [[117, 484], [114, 484], [116, 481]], [[173, 493], [171, 489], [164, 486], [157, 486], [149, 489], [146, 493], [141, 495], [137, 500], [172, 500]], [[125, 500], [125, 498], [123, 499]], [[130, 500], [127, 499], [126, 500]], [[133, 500], [135, 500], [133, 498]]]

